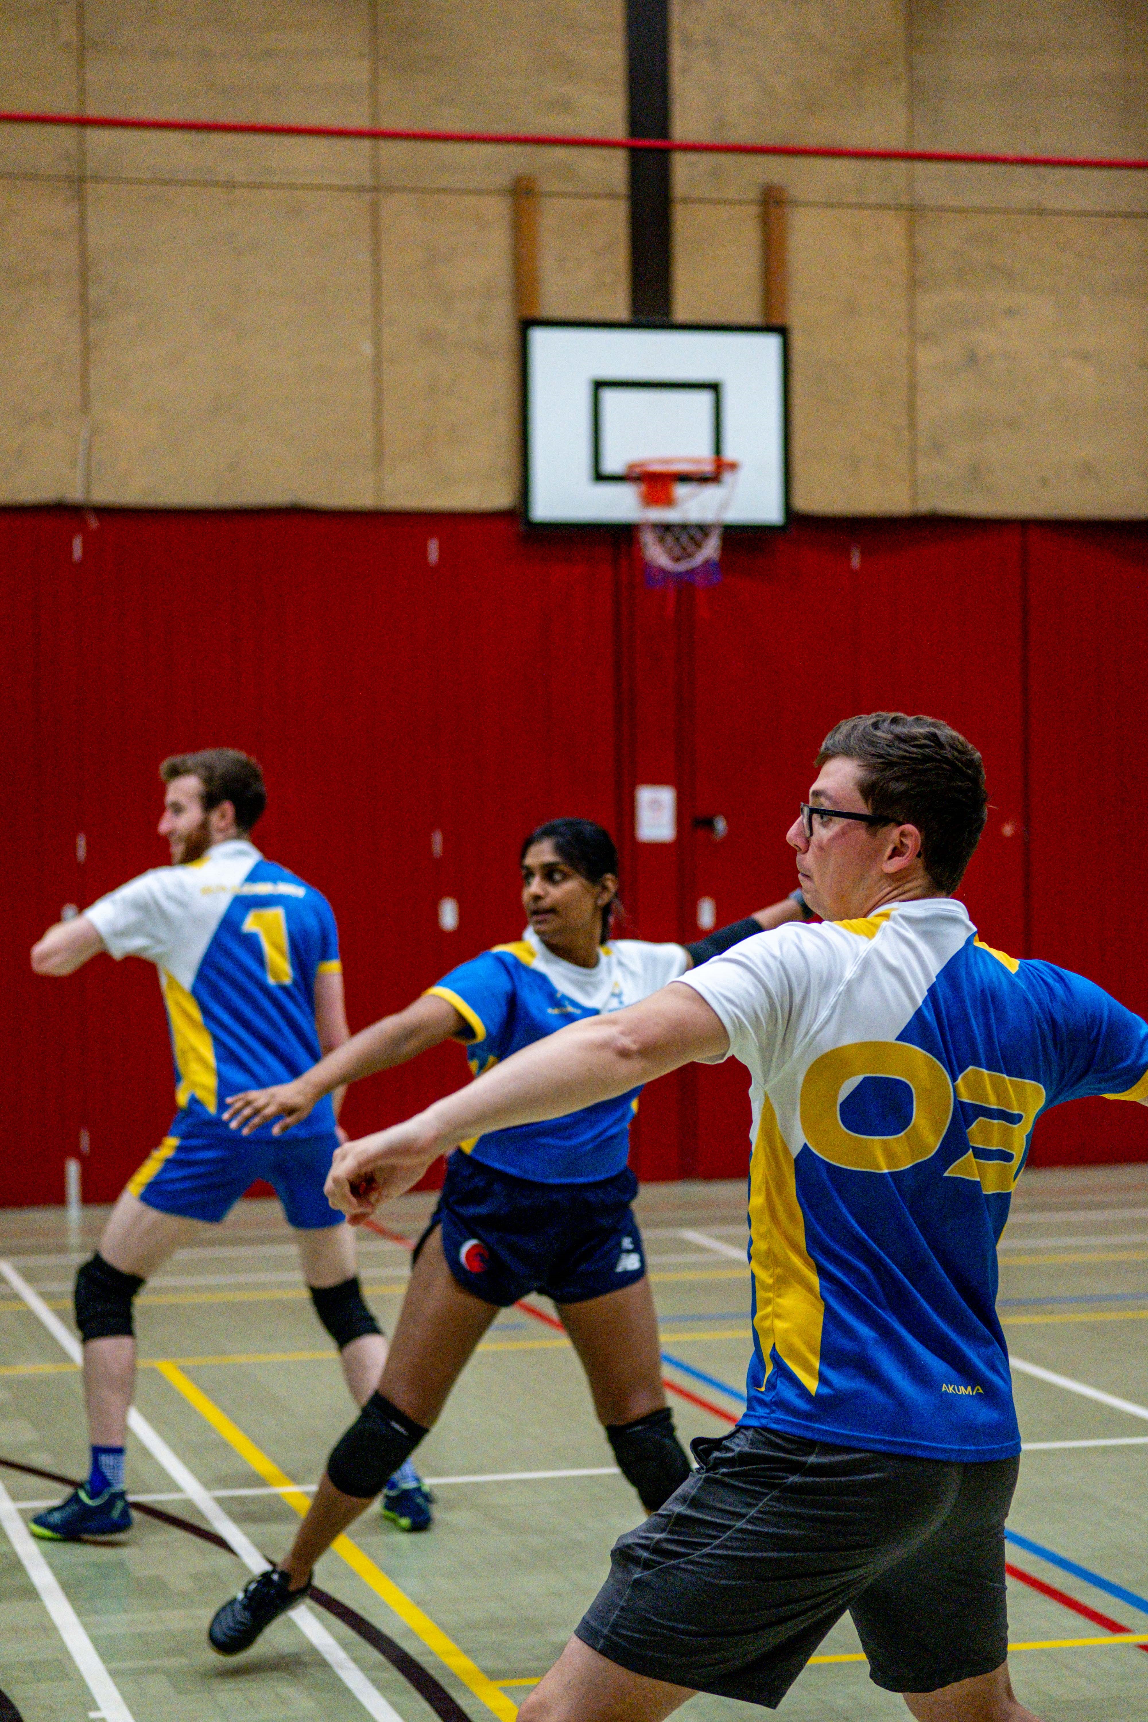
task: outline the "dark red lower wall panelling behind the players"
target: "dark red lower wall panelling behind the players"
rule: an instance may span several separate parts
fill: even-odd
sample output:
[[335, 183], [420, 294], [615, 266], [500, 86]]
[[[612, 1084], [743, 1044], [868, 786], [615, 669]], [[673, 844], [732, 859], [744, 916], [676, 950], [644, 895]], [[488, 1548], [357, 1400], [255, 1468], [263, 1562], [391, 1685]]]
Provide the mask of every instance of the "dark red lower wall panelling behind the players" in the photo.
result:
[[[931, 711], [988, 765], [964, 889], [988, 942], [1148, 1011], [1146, 561], [1139, 527], [799, 520], [731, 537], [723, 584], [671, 604], [625, 537], [504, 515], [0, 511], [0, 1205], [62, 1200], [81, 1131], [84, 1195], [112, 1199], [170, 1118], [151, 969], [38, 980], [28, 947], [64, 902], [167, 859], [157, 765], [189, 747], [263, 761], [258, 842], [330, 897], [360, 1026], [518, 935], [518, 844], [539, 820], [611, 825], [625, 930], [690, 938], [699, 897], [721, 923], [792, 887], [783, 835], [836, 718]], [[635, 844], [639, 782], [676, 784], [675, 846]], [[714, 813], [721, 844], [692, 828]], [[441, 1049], [361, 1083], [344, 1121], [401, 1118], [463, 1076]], [[644, 1097], [635, 1166], [740, 1176], [747, 1123], [740, 1066], [678, 1073]], [[1105, 1159], [1148, 1159], [1139, 1109], [1088, 1102], [1038, 1126], [1036, 1162]]]

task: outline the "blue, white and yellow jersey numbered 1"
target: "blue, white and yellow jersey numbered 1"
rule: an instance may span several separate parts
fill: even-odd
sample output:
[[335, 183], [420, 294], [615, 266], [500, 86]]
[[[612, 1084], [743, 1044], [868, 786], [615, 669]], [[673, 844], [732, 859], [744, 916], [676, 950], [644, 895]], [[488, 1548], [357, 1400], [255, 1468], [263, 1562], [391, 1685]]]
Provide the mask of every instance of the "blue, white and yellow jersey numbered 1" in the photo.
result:
[[[320, 1057], [315, 976], [339, 973], [330, 904], [246, 839], [200, 861], [158, 866], [93, 902], [84, 914], [110, 954], [146, 957], [160, 987], [176, 1056], [169, 1135], [219, 1128], [227, 1095], [291, 1081]], [[308, 1137], [334, 1130], [330, 1099]], [[270, 1137], [270, 1124], [253, 1137]]]

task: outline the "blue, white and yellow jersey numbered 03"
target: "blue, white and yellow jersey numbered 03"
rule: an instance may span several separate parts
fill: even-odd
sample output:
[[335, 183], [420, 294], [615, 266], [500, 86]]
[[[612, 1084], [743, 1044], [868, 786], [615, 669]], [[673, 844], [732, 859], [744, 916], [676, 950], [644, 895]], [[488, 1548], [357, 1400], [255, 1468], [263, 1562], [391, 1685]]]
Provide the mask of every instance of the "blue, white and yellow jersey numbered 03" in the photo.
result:
[[685, 985], [752, 1076], [742, 1421], [923, 1459], [1017, 1453], [995, 1312], [1012, 1186], [1046, 1107], [1148, 1097], [1148, 1025], [983, 945], [952, 897], [747, 938]]

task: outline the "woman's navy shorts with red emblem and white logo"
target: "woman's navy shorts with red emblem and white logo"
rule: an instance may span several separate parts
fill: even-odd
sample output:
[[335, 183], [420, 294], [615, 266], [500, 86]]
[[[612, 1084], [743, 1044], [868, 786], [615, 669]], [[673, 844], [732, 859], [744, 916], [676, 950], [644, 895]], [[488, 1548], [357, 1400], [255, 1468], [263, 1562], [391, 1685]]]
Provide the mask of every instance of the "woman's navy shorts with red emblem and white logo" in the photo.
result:
[[625, 1168], [585, 1185], [511, 1178], [461, 1150], [415, 1255], [442, 1226], [446, 1261], [465, 1292], [506, 1307], [528, 1292], [583, 1304], [645, 1274], [642, 1233], [630, 1209], [639, 1181]]

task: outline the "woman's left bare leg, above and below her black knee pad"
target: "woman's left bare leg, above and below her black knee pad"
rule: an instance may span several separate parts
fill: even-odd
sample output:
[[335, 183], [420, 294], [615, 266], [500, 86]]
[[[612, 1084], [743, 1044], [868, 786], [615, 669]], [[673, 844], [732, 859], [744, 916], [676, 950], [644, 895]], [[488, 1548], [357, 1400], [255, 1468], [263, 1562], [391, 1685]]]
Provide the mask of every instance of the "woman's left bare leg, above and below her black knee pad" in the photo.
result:
[[[379, 1391], [413, 1422], [430, 1429], [496, 1316], [497, 1305], [484, 1304], [458, 1285], [435, 1228], [411, 1269]], [[279, 1562], [293, 1591], [306, 1584], [318, 1557], [372, 1500], [344, 1495], [324, 1472], [291, 1553]]]

